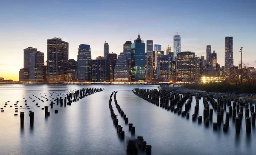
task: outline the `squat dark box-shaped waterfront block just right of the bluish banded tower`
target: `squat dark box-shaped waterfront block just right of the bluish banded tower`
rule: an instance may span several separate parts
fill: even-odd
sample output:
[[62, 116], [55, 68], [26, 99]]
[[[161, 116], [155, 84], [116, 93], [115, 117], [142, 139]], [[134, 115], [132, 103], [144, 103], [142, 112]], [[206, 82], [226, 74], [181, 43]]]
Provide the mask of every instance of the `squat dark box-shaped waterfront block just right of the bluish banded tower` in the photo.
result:
[[104, 60], [91, 60], [91, 82], [110, 81], [110, 62]]

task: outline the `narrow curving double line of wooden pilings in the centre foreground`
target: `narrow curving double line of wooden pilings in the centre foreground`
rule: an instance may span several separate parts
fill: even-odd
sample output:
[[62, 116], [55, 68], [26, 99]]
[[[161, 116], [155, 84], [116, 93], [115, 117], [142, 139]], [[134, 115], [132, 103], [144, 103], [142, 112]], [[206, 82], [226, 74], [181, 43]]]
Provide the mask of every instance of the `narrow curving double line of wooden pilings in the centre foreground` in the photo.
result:
[[[120, 138], [123, 139], [125, 137], [125, 132], [122, 130], [123, 127], [118, 125], [118, 119], [116, 118], [117, 115], [115, 115], [115, 113], [113, 111], [113, 106], [111, 104], [112, 96], [114, 96], [114, 102], [115, 102], [116, 108], [117, 108], [118, 112], [120, 113], [121, 117], [123, 117], [123, 120], [125, 121], [125, 124], [128, 123], [128, 118], [127, 118], [126, 114], [124, 113], [124, 111], [119, 106], [119, 104], [117, 103], [116, 93], [117, 93], [117, 91], [114, 91], [110, 95], [109, 108], [110, 108], [110, 111], [111, 111], [111, 117], [113, 119], [113, 123], [116, 126], [116, 130], [117, 130]], [[135, 134], [135, 126], [133, 126], [133, 123], [128, 123], [128, 128], [129, 128], [129, 131], [131, 131], [131, 134]], [[146, 154], [148, 154], [148, 155], [151, 154], [152, 146], [147, 145], [147, 142], [144, 141], [143, 136], [137, 136], [137, 146], [136, 146], [136, 143], [134, 141], [129, 141], [128, 142], [127, 149], [126, 149], [127, 154], [128, 155], [135, 155], [135, 154], [137, 155], [137, 147], [139, 149], [141, 149], [142, 151], [146, 151]]]

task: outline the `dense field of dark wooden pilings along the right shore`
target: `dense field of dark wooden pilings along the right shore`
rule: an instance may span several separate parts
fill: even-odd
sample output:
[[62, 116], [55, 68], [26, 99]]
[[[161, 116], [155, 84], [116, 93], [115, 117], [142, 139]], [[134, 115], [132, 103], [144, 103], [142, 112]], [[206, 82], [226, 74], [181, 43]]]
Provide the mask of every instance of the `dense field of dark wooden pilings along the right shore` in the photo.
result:
[[[149, 89], [138, 89], [138, 88], [134, 88], [134, 90], [132, 90], [134, 94], [139, 96], [140, 98], [143, 98], [144, 100], [147, 100], [148, 102], [153, 103], [157, 106], [160, 106], [164, 109], [174, 111], [175, 113], [177, 112], [178, 115], [180, 114], [181, 116], [186, 115], [186, 118], [189, 118], [189, 113], [187, 112], [190, 109], [191, 103], [192, 103], [192, 95], [190, 93], [183, 94], [183, 97], [182, 97], [182, 95], [179, 96], [179, 94], [171, 91], [164, 91], [164, 90], [158, 91], [157, 89], [149, 90]], [[224, 132], [228, 131], [229, 120], [230, 120], [230, 117], [233, 116], [232, 118], [235, 120], [236, 133], [240, 132], [240, 126], [242, 122], [244, 108], [243, 106], [239, 106], [239, 103], [236, 103], [237, 100], [233, 102], [233, 107], [236, 108], [236, 109], [235, 108], [233, 109], [231, 106], [231, 100], [229, 100], [228, 98], [225, 98], [224, 96], [222, 96], [216, 102], [215, 99], [213, 98], [213, 95], [207, 95], [206, 98], [203, 98], [204, 115], [197, 117], [198, 111], [199, 111], [199, 98], [201, 98], [201, 96], [195, 95], [195, 98], [196, 98], [195, 112], [192, 115], [192, 121], [195, 121], [196, 118], [198, 118], [198, 123], [201, 123], [202, 120], [204, 120], [205, 126], [209, 126], [209, 120], [212, 120], [213, 110], [215, 110], [217, 115], [217, 122], [213, 122], [213, 129], [218, 129], [218, 126], [221, 126], [221, 122], [224, 119], [224, 111], [226, 111], [226, 106], [228, 105], [229, 112], [226, 112], [225, 124], [223, 124], [223, 131]], [[187, 99], [189, 100], [187, 101], [187, 103], [185, 103]], [[213, 109], [209, 108], [210, 105], [208, 101], [212, 105]], [[184, 103], [185, 103], [185, 110], [182, 111], [181, 109]], [[177, 108], [175, 108], [175, 105], [177, 105]], [[254, 112], [254, 106], [252, 105], [252, 103], [245, 103], [244, 105], [245, 105], [246, 132], [250, 133], [251, 124], [255, 125], [256, 112]], [[250, 109], [248, 109], [249, 105], [250, 105]], [[239, 112], [239, 109], [240, 109], [240, 112]], [[249, 110], [251, 111], [251, 118], [249, 117]], [[255, 107], [255, 111], [256, 111], [256, 107]], [[238, 117], [236, 117], [236, 112], [238, 112]]]

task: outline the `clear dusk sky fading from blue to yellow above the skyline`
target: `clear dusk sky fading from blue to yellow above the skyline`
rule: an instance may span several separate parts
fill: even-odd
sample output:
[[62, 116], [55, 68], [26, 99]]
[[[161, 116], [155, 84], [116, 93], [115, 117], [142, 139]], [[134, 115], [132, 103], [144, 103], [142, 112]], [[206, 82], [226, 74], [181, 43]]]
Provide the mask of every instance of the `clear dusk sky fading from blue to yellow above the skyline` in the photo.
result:
[[137, 38], [168, 45], [181, 37], [181, 51], [205, 55], [211, 45], [224, 66], [226, 36], [233, 37], [234, 65], [243, 60], [256, 66], [255, 0], [2, 0], [0, 1], [0, 77], [18, 80], [23, 49], [44, 52], [47, 39], [61, 37], [69, 43], [69, 59], [77, 59], [79, 44], [89, 44], [92, 58], [109, 51], [119, 54], [127, 40]]

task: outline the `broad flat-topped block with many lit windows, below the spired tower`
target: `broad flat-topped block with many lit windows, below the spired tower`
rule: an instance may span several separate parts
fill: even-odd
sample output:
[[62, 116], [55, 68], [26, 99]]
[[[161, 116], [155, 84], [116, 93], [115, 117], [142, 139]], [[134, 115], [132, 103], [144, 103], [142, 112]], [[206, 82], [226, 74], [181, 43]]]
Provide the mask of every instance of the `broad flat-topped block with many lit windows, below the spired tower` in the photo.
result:
[[191, 83], [195, 81], [195, 53], [180, 52], [177, 54], [176, 82]]

